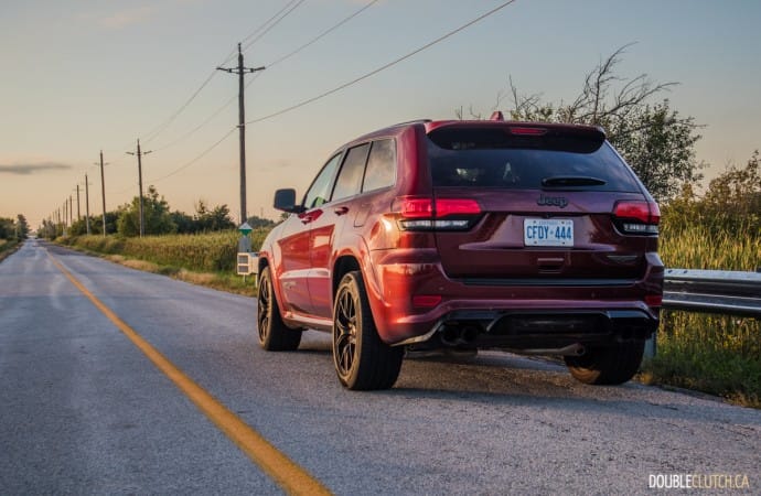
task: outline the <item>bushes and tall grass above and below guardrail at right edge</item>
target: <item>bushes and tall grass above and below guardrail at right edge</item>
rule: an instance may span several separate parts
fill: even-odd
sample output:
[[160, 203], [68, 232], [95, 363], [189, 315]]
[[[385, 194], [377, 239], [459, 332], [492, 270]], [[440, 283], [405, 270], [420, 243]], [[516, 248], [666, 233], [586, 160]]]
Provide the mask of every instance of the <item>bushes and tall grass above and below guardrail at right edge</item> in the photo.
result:
[[[761, 268], [759, 153], [730, 166], [698, 196], [686, 185], [664, 207], [666, 267], [757, 271]], [[724, 396], [761, 408], [761, 321], [665, 311], [657, 355], [643, 379]]]

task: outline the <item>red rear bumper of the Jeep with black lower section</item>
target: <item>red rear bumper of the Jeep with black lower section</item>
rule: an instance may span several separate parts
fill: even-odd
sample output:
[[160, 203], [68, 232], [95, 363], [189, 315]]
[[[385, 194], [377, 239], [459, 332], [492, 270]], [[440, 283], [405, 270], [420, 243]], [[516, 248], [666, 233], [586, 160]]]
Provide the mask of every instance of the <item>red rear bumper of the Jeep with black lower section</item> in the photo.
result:
[[[574, 343], [645, 339], [657, 330], [658, 308], [646, 295], [662, 294], [663, 263], [649, 254], [636, 280], [485, 280], [448, 278], [438, 262], [374, 254], [371, 306], [384, 342], [403, 345], [437, 339], [468, 328], [478, 347], [558, 348]], [[416, 308], [414, 295], [440, 296]]]

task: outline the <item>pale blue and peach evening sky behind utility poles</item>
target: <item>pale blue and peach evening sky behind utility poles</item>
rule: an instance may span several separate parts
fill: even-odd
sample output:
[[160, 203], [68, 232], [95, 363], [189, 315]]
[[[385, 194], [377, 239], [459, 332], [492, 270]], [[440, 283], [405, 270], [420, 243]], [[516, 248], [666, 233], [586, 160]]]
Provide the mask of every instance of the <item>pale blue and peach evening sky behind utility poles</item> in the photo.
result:
[[[519, 91], [570, 100], [585, 75], [626, 47], [621, 77], [678, 85], [668, 98], [703, 127], [707, 179], [761, 148], [761, 2], [515, 0], [482, 21], [354, 85], [504, 0], [25, 0], [0, 2], [0, 217], [30, 225], [76, 187], [99, 215], [143, 185], [172, 211], [203, 201], [239, 217], [237, 76], [246, 75], [247, 213], [276, 218], [278, 187], [302, 194], [331, 152], [378, 128], [489, 115], [512, 78]], [[369, 7], [367, 7], [369, 6]], [[294, 55], [281, 58], [363, 9]], [[286, 9], [285, 11], [282, 9]], [[267, 24], [278, 12], [290, 12]], [[282, 14], [281, 14], [282, 15]], [[277, 19], [277, 18], [276, 18]], [[264, 26], [264, 29], [262, 29]], [[266, 32], [264, 31], [266, 30]], [[503, 100], [500, 108], [508, 109]]]

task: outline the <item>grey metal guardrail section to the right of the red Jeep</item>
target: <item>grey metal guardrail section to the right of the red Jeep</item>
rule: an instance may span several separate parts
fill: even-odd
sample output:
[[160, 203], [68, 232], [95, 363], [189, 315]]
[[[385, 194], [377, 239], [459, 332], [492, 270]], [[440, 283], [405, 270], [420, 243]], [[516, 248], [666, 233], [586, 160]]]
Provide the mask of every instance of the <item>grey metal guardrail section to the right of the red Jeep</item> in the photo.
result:
[[761, 273], [666, 269], [663, 306], [761, 317]]

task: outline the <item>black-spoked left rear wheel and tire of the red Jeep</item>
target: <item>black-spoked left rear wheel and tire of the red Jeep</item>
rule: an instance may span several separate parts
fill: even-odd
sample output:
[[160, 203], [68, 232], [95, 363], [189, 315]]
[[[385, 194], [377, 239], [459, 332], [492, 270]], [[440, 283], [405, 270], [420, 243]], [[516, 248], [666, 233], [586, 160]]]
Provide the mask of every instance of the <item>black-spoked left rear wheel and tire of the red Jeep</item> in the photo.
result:
[[341, 384], [352, 390], [394, 386], [404, 348], [380, 341], [360, 271], [341, 280], [333, 302], [333, 364]]

